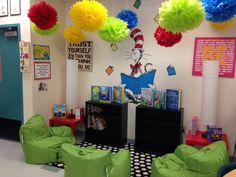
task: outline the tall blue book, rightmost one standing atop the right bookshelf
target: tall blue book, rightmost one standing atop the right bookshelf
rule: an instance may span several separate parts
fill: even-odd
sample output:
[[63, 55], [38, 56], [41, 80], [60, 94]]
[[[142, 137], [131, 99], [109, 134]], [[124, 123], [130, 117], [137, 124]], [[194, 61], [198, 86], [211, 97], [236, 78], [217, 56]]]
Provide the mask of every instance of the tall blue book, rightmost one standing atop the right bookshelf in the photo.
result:
[[181, 90], [166, 89], [166, 109], [178, 111], [181, 104]]

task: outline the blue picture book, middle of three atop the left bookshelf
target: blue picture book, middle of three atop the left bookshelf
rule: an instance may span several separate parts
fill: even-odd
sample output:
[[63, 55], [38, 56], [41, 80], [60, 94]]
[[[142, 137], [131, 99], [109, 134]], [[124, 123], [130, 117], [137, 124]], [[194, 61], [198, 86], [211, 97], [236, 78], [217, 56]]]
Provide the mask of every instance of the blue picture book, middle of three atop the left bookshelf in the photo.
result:
[[99, 102], [100, 103], [111, 103], [111, 101], [112, 101], [112, 87], [100, 86]]

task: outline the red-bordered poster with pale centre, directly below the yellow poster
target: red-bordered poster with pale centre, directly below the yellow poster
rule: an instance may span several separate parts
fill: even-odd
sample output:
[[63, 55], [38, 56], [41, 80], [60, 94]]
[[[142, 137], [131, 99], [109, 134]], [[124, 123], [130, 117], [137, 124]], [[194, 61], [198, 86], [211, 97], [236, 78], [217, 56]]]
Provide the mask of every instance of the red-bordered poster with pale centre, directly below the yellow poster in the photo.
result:
[[34, 80], [51, 79], [51, 62], [34, 62]]

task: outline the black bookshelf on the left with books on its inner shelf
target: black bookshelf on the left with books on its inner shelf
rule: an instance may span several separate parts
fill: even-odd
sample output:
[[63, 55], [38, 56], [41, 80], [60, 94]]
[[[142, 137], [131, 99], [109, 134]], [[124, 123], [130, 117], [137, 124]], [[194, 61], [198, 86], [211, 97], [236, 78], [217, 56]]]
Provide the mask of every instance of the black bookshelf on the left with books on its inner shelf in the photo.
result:
[[[99, 107], [106, 122], [103, 130], [88, 126], [88, 116], [91, 116], [91, 107]], [[127, 143], [127, 110], [128, 104], [104, 104], [86, 101], [86, 134], [85, 140], [96, 144], [122, 146]]]

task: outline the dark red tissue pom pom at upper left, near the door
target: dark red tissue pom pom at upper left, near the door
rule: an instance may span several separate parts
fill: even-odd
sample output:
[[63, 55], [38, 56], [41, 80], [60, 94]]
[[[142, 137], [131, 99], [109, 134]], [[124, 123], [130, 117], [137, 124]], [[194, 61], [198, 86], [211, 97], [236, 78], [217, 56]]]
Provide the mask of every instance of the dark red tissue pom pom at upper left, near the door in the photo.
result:
[[50, 29], [57, 23], [57, 11], [44, 1], [31, 6], [28, 17], [41, 30]]

